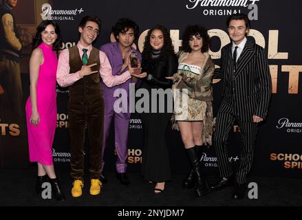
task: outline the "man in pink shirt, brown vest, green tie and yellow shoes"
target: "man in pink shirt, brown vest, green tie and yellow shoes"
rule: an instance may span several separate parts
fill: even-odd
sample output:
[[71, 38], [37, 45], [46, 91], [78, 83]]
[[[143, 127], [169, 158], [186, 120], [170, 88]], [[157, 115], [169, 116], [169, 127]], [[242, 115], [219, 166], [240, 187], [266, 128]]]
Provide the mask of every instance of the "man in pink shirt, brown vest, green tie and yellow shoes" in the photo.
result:
[[101, 160], [103, 148], [104, 100], [100, 77], [107, 87], [125, 83], [133, 69], [119, 76], [112, 76], [105, 53], [92, 47], [100, 32], [98, 17], [87, 16], [78, 27], [80, 41], [63, 50], [58, 58], [57, 81], [61, 87], [69, 86], [69, 134], [71, 139], [71, 175], [74, 179], [72, 196], [80, 197], [83, 188], [85, 127], [88, 131], [90, 156], [90, 194], [98, 195], [102, 182]]

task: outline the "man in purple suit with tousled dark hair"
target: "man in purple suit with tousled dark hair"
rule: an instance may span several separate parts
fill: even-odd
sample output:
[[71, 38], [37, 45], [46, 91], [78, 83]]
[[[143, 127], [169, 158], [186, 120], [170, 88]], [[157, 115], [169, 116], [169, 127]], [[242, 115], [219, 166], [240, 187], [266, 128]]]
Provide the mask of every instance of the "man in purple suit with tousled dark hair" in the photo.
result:
[[[117, 42], [107, 43], [100, 47], [109, 58], [109, 62], [112, 67], [112, 75], [120, 75], [128, 71], [128, 64], [131, 52], [135, 52], [138, 61], [142, 60], [140, 52], [132, 47], [134, 39], [138, 38], [138, 25], [127, 18], [119, 19], [116, 25], [112, 28], [112, 33], [116, 38]], [[139, 71], [140, 67], [138, 67]], [[130, 110], [129, 110], [129, 85], [130, 83], [136, 83], [137, 78], [129, 78], [125, 83], [116, 85], [114, 87], [107, 87], [104, 83], [103, 94], [105, 100], [105, 120], [104, 120], [104, 146], [103, 146], [103, 159], [102, 168], [104, 167], [104, 151], [107, 145], [107, 139], [109, 136], [111, 120], [114, 120], [114, 130], [115, 130], [115, 146], [116, 155], [118, 160], [116, 162], [116, 176], [123, 185], [129, 185], [130, 181], [126, 175], [127, 169], [127, 139], [128, 139], [128, 129], [130, 120]], [[118, 112], [114, 109], [114, 102], [116, 100], [125, 98], [114, 97], [114, 92], [116, 89], [122, 89], [127, 92], [127, 100], [123, 100], [123, 103], [127, 103], [127, 111]], [[125, 102], [124, 102], [125, 101]], [[107, 179], [102, 175], [103, 182], [107, 182]]]

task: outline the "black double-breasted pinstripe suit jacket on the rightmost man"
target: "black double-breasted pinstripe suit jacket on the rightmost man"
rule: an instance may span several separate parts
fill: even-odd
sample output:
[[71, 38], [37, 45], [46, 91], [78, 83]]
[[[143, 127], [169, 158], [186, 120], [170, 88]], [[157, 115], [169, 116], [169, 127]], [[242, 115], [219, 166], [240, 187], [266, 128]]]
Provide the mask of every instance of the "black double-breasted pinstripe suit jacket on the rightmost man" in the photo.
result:
[[235, 113], [241, 122], [252, 122], [252, 115], [266, 117], [272, 89], [266, 52], [251, 36], [247, 39], [237, 67], [233, 65], [232, 43], [222, 47], [221, 68], [214, 75], [224, 79], [218, 113]]

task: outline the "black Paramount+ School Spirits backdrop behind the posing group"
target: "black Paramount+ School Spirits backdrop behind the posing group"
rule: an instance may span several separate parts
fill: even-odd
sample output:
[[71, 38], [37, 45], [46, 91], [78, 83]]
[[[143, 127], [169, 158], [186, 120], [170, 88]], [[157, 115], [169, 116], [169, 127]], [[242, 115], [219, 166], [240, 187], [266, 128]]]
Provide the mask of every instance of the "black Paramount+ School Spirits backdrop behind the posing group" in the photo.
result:
[[[266, 122], [259, 126], [252, 175], [301, 177], [302, 170], [302, 119], [301, 119], [301, 1], [273, 0], [128, 0], [128, 1], [43, 1], [19, 0], [13, 14], [22, 43], [20, 62], [23, 106], [29, 96], [29, 58], [31, 41], [36, 25], [43, 19], [52, 19], [61, 27], [63, 48], [78, 42], [78, 23], [85, 15], [95, 15], [102, 21], [100, 35], [94, 44], [112, 41], [111, 27], [121, 17], [129, 17], [140, 27], [136, 47], [142, 52], [144, 36], [153, 25], [161, 24], [170, 30], [175, 52], [182, 49], [182, 33], [186, 25], [200, 24], [211, 36], [210, 54], [219, 66], [220, 50], [230, 42], [226, 29], [227, 17], [235, 12], [244, 12], [253, 20], [250, 36], [265, 48], [272, 76], [272, 101]], [[214, 114], [221, 101], [222, 80], [213, 81]], [[300, 94], [299, 94], [300, 93]], [[70, 146], [68, 132], [68, 89], [57, 86], [58, 115], [52, 154], [55, 166], [69, 169]], [[1, 94], [0, 94], [1, 96]], [[14, 97], [11, 97], [14, 99]], [[1, 100], [1, 99], [0, 99]], [[1, 109], [9, 109], [0, 103]], [[24, 116], [23, 116], [24, 117]], [[23, 168], [30, 166], [28, 142], [23, 122], [1, 115], [0, 118], [1, 167]], [[188, 162], [178, 131], [169, 127], [166, 131], [171, 169], [184, 173]], [[132, 113], [129, 123], [128, 170], [140, 173], [143, 149], [143, 128], [138, 113]], [[230, 133], [228, 142], [230, 161], [237, 166], [240, 158], [241, 136], [237, 124]], [[85, 143], [85, 152], [89, 144]], [[88, 157], [88, 154], [86, 154]], [[114, 129], [111, 127], [105, 151], [105, 170], [115, 170]], [[214, 148], [204, 148], [202, 162], [206, 172], [218, 175], [217, 157]]]

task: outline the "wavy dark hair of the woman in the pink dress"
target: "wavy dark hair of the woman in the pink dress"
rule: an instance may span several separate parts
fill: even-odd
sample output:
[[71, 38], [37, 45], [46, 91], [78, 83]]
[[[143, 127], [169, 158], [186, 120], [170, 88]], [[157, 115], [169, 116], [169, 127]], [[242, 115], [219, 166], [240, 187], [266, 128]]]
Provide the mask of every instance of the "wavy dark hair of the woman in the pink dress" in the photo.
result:
[[32, 39], [32, 50], [36, 49], [41, 43], [42, 43], [42, 36], [41, 33], [45, 30], [45, 28], [48, 25], [54, 26], [54, 32], [56, 32], [56, 41], [54, 41], [54, 44], [52, 45], [52, 50], [58, 52], [58, 50], [61, 50], [62, 46], [62, 37], [61, 37], [61, 31], [60, 28], [58, 27], [58, 24], [55, 21], [51, 20], [45, 20], [42, 21], [38, 27], [36, 28], [36, 35]]

